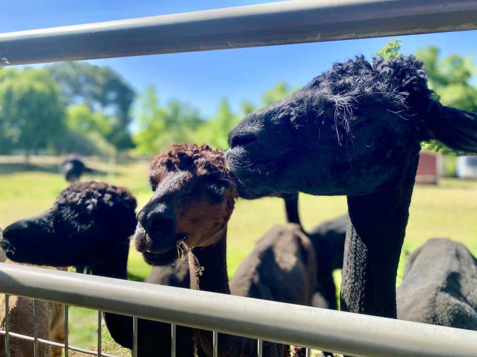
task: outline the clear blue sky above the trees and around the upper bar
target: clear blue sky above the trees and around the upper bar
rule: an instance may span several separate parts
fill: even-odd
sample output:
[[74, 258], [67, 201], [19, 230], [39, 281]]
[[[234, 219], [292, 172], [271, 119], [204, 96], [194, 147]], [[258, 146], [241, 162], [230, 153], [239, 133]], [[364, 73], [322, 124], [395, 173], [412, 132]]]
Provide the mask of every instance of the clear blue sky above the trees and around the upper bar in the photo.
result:
[[[0, 32], [132, 17], [205, 10], [266, 2], [265, 0], [15, 0], [0, 6]], [[418, 48], [436, 45], [446, 56], [474, 56], [477, 64], [477, 31], [400, 36], [401, 51], [408, 55]], [[235, 110], [240, 102], [260, 103], [261, 94], [284, 80], [302, 86], [333, 62], [356, 55], [371, 56], [392, 38], [374, 38], [313, 44], [271, 46], [184, 54], [143, 56], [91, 63], [108, 65], [119, 72], [139, 93], [154, 84], [165, 102], [178, 98], [213, 115], [221, 98]]]

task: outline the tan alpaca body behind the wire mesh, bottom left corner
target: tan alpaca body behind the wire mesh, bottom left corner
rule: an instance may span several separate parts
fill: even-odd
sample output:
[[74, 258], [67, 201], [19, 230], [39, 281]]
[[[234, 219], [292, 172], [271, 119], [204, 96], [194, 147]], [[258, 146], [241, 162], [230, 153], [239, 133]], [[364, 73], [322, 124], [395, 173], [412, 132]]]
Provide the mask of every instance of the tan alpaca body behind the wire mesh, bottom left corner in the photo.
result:
[[[6, 259], [7, 264], [18, 264]], [[50, 266], [21, 264], [39, 268], [66, 270]], [[9, 330], [33, 336], [33, 300], [10, 295], [8, 300]], [[5, 330], [5, 295], [0, 294], [0, 329]], [[38, 338], [65, 343], [65, 306], [56, 302], [38, 300]], [[62, 348], [38, 343], [39, 357], [61, 357]], [[0, 338], [0, 356], [5, 356], [5, 340]], [[10, 336], [11, 357], [33, 356], [33, 341]]]

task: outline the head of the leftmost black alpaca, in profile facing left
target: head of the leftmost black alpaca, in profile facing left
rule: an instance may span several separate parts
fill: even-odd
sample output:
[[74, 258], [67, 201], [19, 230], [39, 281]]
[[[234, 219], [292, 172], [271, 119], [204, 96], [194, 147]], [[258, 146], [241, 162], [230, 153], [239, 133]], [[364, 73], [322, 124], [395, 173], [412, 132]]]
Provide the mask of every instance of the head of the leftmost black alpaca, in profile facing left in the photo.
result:
[[20, 263], [97, 265], [129, 247], [135, 208], [136, 198], [124, 187], [72, 183], [53, 208], [6, 227], [1, 245], [8, 258]]

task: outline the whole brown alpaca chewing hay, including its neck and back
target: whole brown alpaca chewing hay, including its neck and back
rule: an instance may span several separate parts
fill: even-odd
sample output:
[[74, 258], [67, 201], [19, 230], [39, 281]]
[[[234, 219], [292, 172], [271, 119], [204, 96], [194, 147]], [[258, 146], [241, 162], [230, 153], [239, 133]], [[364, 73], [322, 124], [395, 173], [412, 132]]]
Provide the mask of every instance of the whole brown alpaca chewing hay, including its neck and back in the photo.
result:
[[[310, 304], [314, 252], [297, 225], [276, 227], [265, 235], [247, 258], [253, 266], [239, 268], [229, 286], [227, 223], [237, 189], [230, 183], [223, 152], [207, 145], [173, 145], [153, 160], [150, 180], [154, 195], [137, 215], [135, 236], [148, 263], [170, 263], [183, 240], [193, 248], [191, 289]], [[197, 340], [205, 355], [212, 356], [212, 333], [199, 330]], [[269, 357], [288, 355], [285, 350], [278, 344], [263, 346]], [[218, 352], [222, 357], [256, 356], [256, 340], [220, 334]]]

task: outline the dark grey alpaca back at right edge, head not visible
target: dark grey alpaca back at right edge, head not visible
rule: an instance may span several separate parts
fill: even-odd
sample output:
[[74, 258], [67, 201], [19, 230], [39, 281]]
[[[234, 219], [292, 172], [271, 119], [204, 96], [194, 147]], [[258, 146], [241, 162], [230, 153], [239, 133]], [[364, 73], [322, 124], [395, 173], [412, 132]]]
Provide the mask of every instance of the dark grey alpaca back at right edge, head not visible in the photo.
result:
[[477, 259], [462, 243], [433, 238], [406, 260], [397, 318], [477, 330]]

